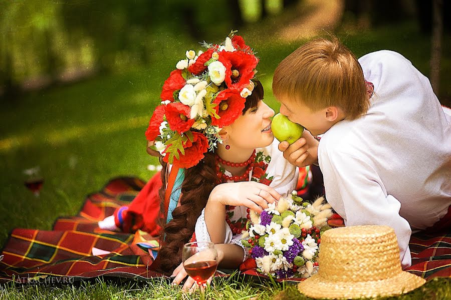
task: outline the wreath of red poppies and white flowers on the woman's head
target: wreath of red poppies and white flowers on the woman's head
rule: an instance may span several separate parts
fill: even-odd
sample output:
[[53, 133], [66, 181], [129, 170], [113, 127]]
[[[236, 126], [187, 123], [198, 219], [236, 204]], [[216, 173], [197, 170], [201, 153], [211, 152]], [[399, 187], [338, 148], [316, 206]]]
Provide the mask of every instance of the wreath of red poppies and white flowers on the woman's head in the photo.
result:
[[186, 51], [164, 81], [161, 104], [149, 121], [146, 138], [155, 141], [163, 161], [179, 168], [196, 165], [222, 143], [219, 131], [243, 112], [259, 59], [232, 31], [221, 44], [202, 43], [205, 52]]

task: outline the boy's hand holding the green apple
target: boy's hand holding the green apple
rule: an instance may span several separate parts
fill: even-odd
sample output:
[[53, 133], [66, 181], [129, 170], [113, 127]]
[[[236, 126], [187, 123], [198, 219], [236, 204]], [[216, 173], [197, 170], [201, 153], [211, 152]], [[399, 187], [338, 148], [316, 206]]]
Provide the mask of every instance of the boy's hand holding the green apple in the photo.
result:
[[291, 145], [288, 141], [279, 144], [279, 150], [284, 152], [284, 157], [291, 164], [296, 166], [306, 166], [318, 163], [319, 141], [313, 137], [308, 130], [304, 130], [302, 137]]

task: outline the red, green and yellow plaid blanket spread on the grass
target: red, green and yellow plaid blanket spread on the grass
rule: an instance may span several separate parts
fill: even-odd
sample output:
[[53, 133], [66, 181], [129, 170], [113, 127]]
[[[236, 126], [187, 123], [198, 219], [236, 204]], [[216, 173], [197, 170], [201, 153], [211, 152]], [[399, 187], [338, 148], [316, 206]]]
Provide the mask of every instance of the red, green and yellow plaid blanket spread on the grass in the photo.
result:
[[[97, 226], [99, 220], [111, 215], [117, 207], [129, 203], [145, 183], [133, 177], [112, 179], [101, 191], [87, 196], [78, 215], [58, 218], [53, 230], [14, 229], [3, 248], [0, 281], [25, 283], [42, 282], [43, 278], [70, 278], [52, 282], [73, 282], [97, 276], [146, 280], [165, 276], [152, 270], [154, 255], [151, 249], [139, 244], [157, 238], [143, 236], [142, 231], [129, 234], [100, 230]], [[93, 249], [98, 250], [96, 255]], [[409, 272], [427, 279], [451, 276], [450, 233], [413, 234], [410, 250]], [[241, 270], [245, 275], [265, 277], [249, 259]]]

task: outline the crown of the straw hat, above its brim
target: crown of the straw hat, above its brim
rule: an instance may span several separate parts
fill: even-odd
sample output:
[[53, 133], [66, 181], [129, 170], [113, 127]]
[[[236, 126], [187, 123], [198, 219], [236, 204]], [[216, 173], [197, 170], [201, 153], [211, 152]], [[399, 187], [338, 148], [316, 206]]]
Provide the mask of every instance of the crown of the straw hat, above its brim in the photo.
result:
[[389, 226], [350, 226], [321, 236], [318, 275], [332, 281], [381, 280], [402, 271], [399, 246]]

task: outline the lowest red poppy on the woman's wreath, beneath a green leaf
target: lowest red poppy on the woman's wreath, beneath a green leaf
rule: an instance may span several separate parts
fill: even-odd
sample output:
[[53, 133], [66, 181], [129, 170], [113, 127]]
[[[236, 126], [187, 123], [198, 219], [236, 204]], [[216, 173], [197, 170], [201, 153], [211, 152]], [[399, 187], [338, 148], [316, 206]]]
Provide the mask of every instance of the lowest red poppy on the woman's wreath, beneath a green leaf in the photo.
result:
[[[185, 154], [180, 154], [179, 159], [174, 157], [173, 165], [177, 165], [180, 168], [190, 168], [205, 157], [203, 153], [208, 150], [207, 138], [202, 133], [196, 131], [192, 131], [192, 137], [192, 141], [188, 139], [183, 145]], [[168, 156], [165, 155], [163, 160], [168, 162]]]

